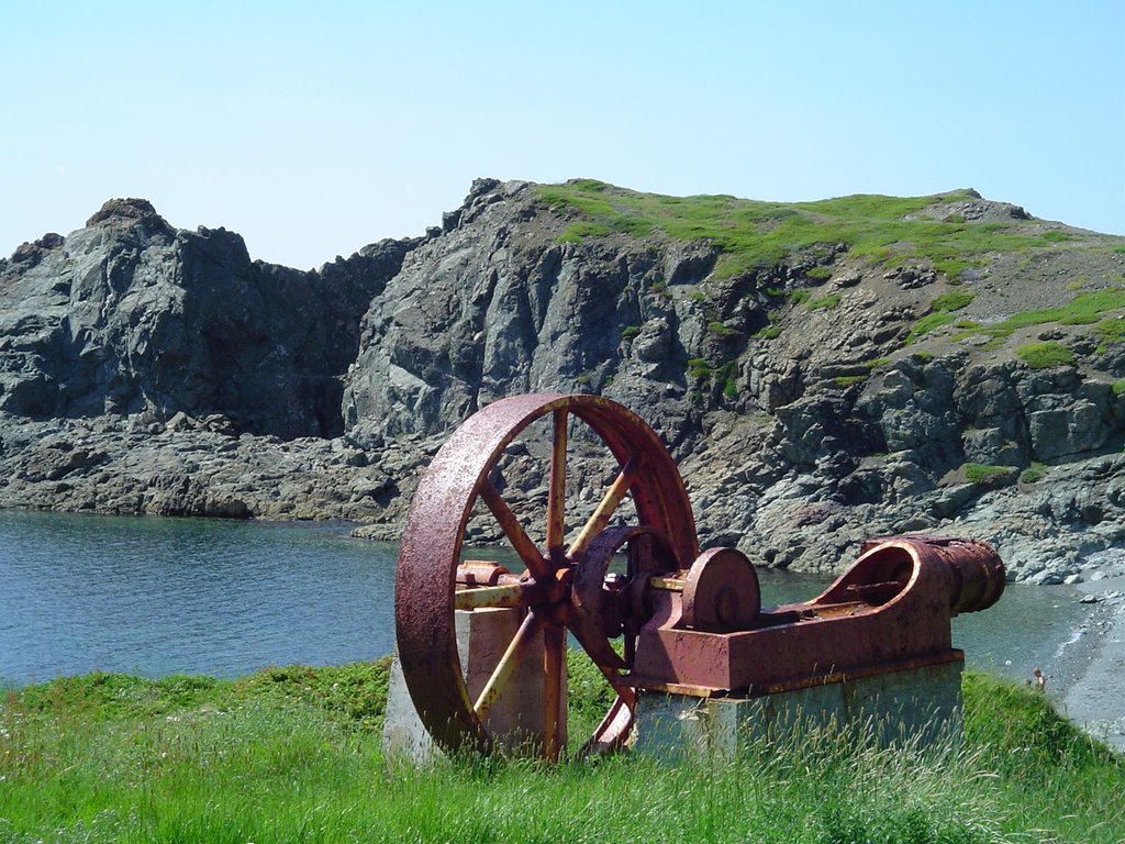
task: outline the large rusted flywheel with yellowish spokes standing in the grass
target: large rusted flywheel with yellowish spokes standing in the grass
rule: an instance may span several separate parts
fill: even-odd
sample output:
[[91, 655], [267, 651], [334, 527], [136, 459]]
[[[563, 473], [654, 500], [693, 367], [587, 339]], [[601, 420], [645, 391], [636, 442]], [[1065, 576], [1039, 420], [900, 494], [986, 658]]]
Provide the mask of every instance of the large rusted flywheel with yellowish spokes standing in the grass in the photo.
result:
[[[568, 540], [565, 520], [567, 433], [570, 419], [588, 425], [618, 466], [588, 518]], [[537, 419], [549, 417], [550, 468], [546, 508], [516, 515], [492, 479], [505, 449]], [[636, 523], [606, 528], [630, 495]], [[466, 527], [480, 500], [525, 571], [496, 585], [458, 592]], [[543, 510], [546, 512], [543, 512]], [[546, 537], [542, 547], [529, 527]], [[628, 547], [628, 578], [686, 567], [699, 554], [695, 523], [683, 482], [656, 433], [637, 415], [592, 395], [513, 396], [467, 420], [434, 457], [418, 484], [406, 519], [395, 583], [398, 656], [423, 725], [444, 749], [493, 746], [486, 719], [505, 684], [526, 655], [542, 645], [541, 719], [543, 755], [562, 749], [562, 672], [569, 630], [616, 692], [616, 700], [587, 745], [610, 747], [626, 739], [632, 722], [633, 691], [621, 679], [631, 656], [612, 649], [613, 603], [604, 585], [614, 551]], [[628, 584], [624, 584], [628, 590]], [[620, 595], [628, 600], [628, 593]], [[522, 621], [507, 641], [483, 689], [470, 698], [457, 648], [456, 610], [520, 608]], [[609, 619], [609, 622], [608, 622]], [[627, 631], [628, 632], [628, 631]]]

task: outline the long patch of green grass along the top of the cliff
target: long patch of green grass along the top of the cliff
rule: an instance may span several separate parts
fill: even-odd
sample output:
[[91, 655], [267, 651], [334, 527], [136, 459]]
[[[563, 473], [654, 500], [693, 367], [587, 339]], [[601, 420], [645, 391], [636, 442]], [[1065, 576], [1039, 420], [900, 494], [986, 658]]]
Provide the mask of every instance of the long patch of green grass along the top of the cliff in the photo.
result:
[[[572, 218], [561, 240], [646, 236], [655, 231], [680, 241], [706, 240], [721, 252], [716, 267], [720, 278], [777, 263], [794, 252], [827, 258], [834, 244], [844, 243], [853, 255], [888, 267], [928, 260], [955, 279], [964, 269], [983, 264], [991, 252], [1058, 249], [1062, 240], [1059, 232], [1035, 233], [1023, 221], [965, 222], [943, 214], [942, 204], [968, 197], [963, 190], [929, 197], [856, 195], [785, 204], [731, 196], [639, 194], [579, 179], [541, 186], [539, 195], [549, 208]], [[930, 206], [938, 208], [924, 213]], [[1076, 235], [1065, 248], [1080, 244]]]

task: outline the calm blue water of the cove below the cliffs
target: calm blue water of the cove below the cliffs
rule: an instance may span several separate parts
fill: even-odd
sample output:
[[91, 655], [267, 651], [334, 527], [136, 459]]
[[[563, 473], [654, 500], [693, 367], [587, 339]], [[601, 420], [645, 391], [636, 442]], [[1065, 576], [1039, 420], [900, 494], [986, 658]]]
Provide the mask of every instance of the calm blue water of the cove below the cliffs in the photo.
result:
[[[396, 548], [345, 524], [0, 512], [0, 685], [93, 670], [233, 676], [394, 648]], [[825, 578], [763, 572], [764, 603]], [[1009, 586], [954, 620], [971, 665], [1052, 665], [1084, 617], [1061, 587]]]

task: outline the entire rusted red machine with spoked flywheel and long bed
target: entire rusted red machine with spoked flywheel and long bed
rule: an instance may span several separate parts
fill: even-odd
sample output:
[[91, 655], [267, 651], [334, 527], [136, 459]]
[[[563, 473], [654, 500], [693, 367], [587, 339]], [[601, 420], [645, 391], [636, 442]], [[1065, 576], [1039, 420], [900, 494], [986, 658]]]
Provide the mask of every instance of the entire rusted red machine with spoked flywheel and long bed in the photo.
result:
[[[536, 420], [550, 431], [546, 502], [531, 519], [520, 508], [521, 521], [502, 492], [501, 469]], [[616, 474], [590, 502], [584, 523], [568, 530], [574, 420], [604, 443]], [[610, 524], [627, 496], [628, 523]], [[462, 558], [475, 512], [490, 514], [525, 571]], [[619, 551], [624, 571], [611, 571]], [[542, 753], [556, 760], [565, 736], [568, 632], [616, 694], [587, 742], [612, 748], [629, 736], [638, 691], [759, 695], [960, 661], [951, 617], [990, 607], [1004, 582], [999, 557], [981, 542], [892, 537], [868, 542], [821, 595], [763, 610], [757, 575], [742, 554], [700, 554], [684, 484], [651, 428], [600, 396], [520, 395], [467, 420], [418, 485], [398, 558], [398, 656], [418, 717], [438, 744], [487, 751], [489, 710], [534, 653], [542, 661], [542, 712], [532, 717], [542, 724]], [[456, 617], [484, 608], [514, 608], [520, 620], [470, 695]]]

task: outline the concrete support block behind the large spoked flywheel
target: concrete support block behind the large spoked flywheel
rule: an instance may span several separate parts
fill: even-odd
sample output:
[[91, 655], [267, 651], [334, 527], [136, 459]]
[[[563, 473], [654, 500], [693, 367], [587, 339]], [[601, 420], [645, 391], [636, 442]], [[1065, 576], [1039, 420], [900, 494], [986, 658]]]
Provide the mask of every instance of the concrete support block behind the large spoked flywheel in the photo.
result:
[[[476, 700], [507, 644], [523, 620], [520, 609], [458, 610], [456, 613], [457, 652], [465, 671], [470, 700]], [[566, 663], [562, 664], [562, 740], [566, 742]], [[511, 680], [504, 685], [485, 719], [485, 727], [501, 749], [541, 754], [544, 733], [543, 640], [528, 648]], [[414, 709], [406, 680], [395, 654], [387, 690], [387, 711], [382, 725], [384, 755], [424, 764], [442, 755]]]

